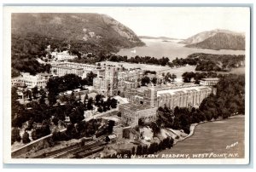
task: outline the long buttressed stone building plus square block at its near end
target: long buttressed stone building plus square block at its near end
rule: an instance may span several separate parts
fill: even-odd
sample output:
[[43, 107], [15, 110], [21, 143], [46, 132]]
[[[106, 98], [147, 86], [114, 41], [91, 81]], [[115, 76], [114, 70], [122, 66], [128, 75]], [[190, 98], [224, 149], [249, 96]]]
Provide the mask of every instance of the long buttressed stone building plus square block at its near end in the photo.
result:
[[154, 121], [160, 106], [199, 106], [211, 93], [212, 88], [195, 84], [130, 89], [125, 94], [130, 103], [120, 105], [119, 111], [122, 113], [122, 121], [134, 127], [140, 118], [144, 122]]

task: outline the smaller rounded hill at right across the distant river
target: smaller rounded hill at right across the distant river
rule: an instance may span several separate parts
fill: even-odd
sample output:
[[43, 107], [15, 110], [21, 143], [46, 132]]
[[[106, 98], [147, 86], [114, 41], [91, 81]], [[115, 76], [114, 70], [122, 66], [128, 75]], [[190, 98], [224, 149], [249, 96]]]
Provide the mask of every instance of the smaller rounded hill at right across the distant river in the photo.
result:
[[244, 50], [245, 36], [227, 30], [212, 30], [198, 33], [181, 43], [187, 44], [186, 47], [190, 48]]

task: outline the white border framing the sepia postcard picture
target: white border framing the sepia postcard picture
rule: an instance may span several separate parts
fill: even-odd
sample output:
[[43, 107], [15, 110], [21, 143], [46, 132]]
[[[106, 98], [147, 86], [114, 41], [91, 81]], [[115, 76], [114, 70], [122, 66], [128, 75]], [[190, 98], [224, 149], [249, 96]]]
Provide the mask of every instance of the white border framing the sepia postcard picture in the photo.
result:
[[[220, 5], [221, 6], [221, 5]], [[83, 13], [87, 7], [4, 7], [3, 8], [3, 163], [65, 164], [247, 164], [249, 162], [249, 86], [250, 58], [246, 58], [245, 158], [237, 159], [32, 159], [11, 158], [10, 90], [11, 90], [11, 13]], [[113, 7], [117, 8], [117, 7]], [[165, 7], [163, 7], [165, 8]], [[249, 19], [248, 19], [249, 20]], [[246, 32], [246, 57], [250, 57], [250, 27]], [[251, 114], [252, 115], [252, 114]]]

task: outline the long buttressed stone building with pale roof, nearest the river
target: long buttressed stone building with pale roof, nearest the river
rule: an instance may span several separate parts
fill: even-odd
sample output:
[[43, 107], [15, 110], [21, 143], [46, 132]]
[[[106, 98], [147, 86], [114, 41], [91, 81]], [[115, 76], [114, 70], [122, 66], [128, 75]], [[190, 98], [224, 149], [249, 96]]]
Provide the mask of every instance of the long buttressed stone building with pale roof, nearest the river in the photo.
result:
[[212, 93], [212, 88], [195, 84], [173, 86], [152, 86], [130, 89], [125, 97], [130, 102], [152, 107], [167, 106], [174, 108], [199, 106], [201, 101]]

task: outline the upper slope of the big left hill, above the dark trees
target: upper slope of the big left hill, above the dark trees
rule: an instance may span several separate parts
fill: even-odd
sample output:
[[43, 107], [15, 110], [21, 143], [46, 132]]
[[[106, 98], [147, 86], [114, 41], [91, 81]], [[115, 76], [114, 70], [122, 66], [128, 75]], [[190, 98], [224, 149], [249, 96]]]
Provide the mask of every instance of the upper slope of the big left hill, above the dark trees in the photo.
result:
[[143, 45], [131, 29], [105, 14], [12, 14], [12, 35], [29, 43], [44, 37], [52, 48], [70, 43], [92, 53]]

